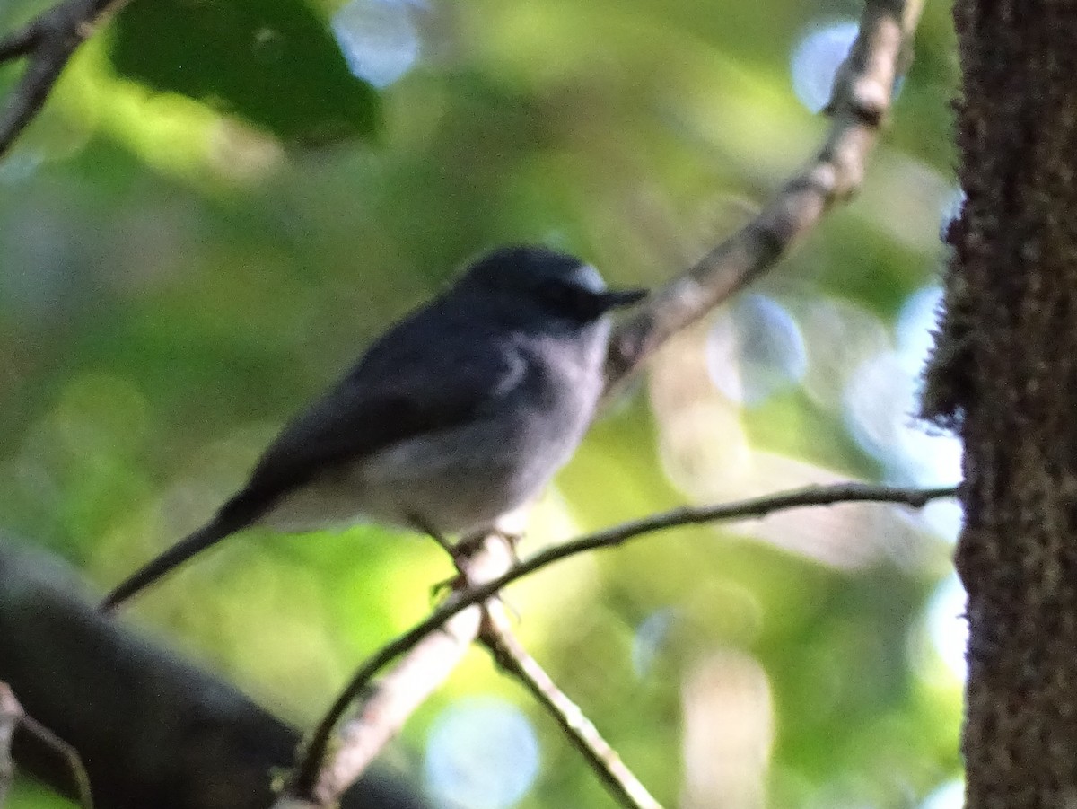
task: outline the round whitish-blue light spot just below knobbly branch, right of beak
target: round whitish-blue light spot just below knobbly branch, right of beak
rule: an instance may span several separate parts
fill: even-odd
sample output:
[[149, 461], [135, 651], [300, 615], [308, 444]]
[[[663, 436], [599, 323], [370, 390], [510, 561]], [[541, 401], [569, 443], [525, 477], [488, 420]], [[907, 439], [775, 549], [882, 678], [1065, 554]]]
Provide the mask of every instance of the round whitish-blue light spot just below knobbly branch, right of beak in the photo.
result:
[[800, 381], [808, 354], [785, 307], [764, 295], [745, 295], [711, 329], [707, 366], [723, 394], [752, 407]]

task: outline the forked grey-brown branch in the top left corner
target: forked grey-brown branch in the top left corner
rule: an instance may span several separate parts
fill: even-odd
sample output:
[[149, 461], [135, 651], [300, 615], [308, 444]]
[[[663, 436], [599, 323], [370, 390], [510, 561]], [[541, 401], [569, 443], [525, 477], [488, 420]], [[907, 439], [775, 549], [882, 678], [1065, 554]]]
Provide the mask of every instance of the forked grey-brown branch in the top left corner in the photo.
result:
[[79, 45], [127, 1], [67, 0], [0, 39], [0, 64], [27, 59], [23, 76], [0, 110], [0, 157], [41, 111]]

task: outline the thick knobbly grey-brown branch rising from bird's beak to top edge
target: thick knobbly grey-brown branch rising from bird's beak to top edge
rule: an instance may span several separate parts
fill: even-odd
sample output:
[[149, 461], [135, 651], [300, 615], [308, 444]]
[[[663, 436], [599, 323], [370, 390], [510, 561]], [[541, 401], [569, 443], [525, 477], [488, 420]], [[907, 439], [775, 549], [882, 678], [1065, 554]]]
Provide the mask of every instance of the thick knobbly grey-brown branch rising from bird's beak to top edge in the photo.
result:
[[834, 82], [831, 125], [815, 159], [744, 227], [652, 295], [613, 335], [606, 389], [619, 387], [673, 334], [770, 269], [835, 203], [861, 186], [867, 156], [908, 59], [923, 0], [869, 0], [856, 42]]

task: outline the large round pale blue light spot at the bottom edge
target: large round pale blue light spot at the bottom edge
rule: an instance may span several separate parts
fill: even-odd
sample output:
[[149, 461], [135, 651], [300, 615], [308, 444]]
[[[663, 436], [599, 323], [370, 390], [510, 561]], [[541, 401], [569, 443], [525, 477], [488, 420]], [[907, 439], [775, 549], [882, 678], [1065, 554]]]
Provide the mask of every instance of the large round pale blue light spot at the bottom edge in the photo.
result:
[[426, 789], [446, 809], [503, 809], [531, 789], [538, 741], [513, 705], [490, 697], [448, 708], [426, 740]]

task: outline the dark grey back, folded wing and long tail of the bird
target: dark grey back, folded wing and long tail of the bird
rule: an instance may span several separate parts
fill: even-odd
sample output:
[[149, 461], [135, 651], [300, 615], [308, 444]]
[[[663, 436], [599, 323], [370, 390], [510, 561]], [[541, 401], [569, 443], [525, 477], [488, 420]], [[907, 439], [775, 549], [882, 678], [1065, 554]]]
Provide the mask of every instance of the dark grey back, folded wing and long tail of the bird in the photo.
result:
[[[247, 486], [214, 517], [116, 586], [109, 612], [195, 554], [255, 522], [283, 496], [334, 466], [408, 437], [450, 430], [524, 383], [526, 365], [490, 334], [420, 310], [376, 343], [262, 456]], [[431, 332], [437, 340], [428, 339]], [[491, 338], [492, 337], [492, 338]]]

